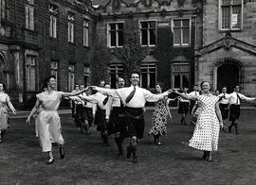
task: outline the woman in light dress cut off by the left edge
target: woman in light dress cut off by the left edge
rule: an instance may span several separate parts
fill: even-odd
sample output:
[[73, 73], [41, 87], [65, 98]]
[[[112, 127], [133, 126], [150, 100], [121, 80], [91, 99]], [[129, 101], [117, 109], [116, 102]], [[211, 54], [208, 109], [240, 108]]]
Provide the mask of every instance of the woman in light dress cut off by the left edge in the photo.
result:
[[3, 143], [4, 135], [7, 128], [9, 127], [8, 108], [11, 109], [13, 114], [16, 114], [16, 109], [14, 109], [11, 102], [9, 101], [9, 95], [5, 93], [4, 84], [0, 82], [0, 143]]

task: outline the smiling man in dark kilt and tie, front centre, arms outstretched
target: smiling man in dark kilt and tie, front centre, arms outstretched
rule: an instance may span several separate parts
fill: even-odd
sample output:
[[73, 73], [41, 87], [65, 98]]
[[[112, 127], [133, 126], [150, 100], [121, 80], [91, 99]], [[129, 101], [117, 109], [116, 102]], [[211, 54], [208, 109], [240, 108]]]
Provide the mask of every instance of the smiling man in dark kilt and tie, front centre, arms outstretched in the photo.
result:
[[113, 97], [119, 97], [125, 106], [125, 122], [130, 137], [130, 145], [127, 147], [127, 158], [131, 158], [132, 162], [137, 162], [137, 139], [143, 138], [144, 133], [144, 111], [146, 101], [156, 102], [164, 96], [167, 96], [170, 91], [154, 94], [146, 89], [138, 87], [139, 73], [131, 73], [131, 87], [120, 88], [118, 90], [106, 90], [99, 87], [92, 87], [99, 92], [102, 92]]

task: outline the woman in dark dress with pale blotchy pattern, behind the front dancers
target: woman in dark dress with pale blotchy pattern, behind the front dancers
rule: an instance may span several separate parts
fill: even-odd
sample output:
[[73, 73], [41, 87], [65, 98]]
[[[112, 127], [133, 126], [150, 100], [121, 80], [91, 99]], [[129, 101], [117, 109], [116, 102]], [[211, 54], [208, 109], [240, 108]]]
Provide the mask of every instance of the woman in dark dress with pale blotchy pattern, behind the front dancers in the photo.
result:
[[[162, 89], [163, 84], [155, 84], [156, 93], [161, 93]], [[157, 145], [161, 144], [160, 137], [162, 135], [166, 135], [167, 116], [169, 115], [172, 119], [172, 115], [168, 106], [170, 101], [174, 101], [174, 99], [165, 97], [164, 99], [155, 102], [155, 109], [152, 115], [152, 128], [149, 131], [149, 135], [154, 135], [155, 143]]]

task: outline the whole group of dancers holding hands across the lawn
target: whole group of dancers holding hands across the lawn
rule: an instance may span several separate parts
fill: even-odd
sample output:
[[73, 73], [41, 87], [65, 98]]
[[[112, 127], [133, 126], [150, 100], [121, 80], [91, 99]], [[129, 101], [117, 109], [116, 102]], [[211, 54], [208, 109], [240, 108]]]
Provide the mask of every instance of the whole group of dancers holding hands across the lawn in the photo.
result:
[[[203, 159], [212, 161], [211, 152], [217, 150], [219, 130], [224, 126], [223, 120], [227, 119], [227, 114], [225, 114], [227, 107], [223, 106], [225, 104], [224, 100], [228, 99], [228, 104], [230, 104], [229, 120], [231, 125], [229, 130], [232, 126], [235, 126], [236, 132], [237, 123], [235, 121], [240, 115], [240, 99], [255, 100], [255, 98], [248, 98], [239, 93], [238, 86], [235, 87], [233, 93], [226, 93], [225, 89], [227, 91], [227, 88], [224, 88], [221, 94], [214, 95], [210, 92], [210, 83], [207, 81], [203, 81], [200, 85], [201, 94], [195, 88], [191, 93], [178, 92], [174, 89], [162, 92], [163, 85], [161, 83], [155, 84], [156, 93], [152, 93], [138, 86], [139, 76], [140, 74], [136, 71], [131, 73], [130, 87], [125, 87], [124, 79], [119, 77], [118, 89], [110, 89], [109, 84], [103, 84], [102, 82], [101, 87], [89, 86], [84, 88], [82, 86], [73, 92], [55, 91], [55, 76], [47, 76], [44, 80], [42, 92], [36, 94], [35, 107], [27, 117], [27, 124], [30, 123], [32, 117], [35, 119], [36, 133], [40, 145], [43, 152], [48, 155], [46, 163], [51, 164], [54, 161], [52, 143], [58, 143], [61, 159], [64, 159], [64, 138], [61, 132], [61, 119], [57, 112], [63, 98], [69, 98], [76, 102], [73, 105], [76, 107], [73, 110], [73, 116], [82, 133], [90, 134], [89, 127], [94, 123], [97, 125], [97, 130], [101, 132], [101, 139], [106, 145], [109, 144], [109, 135], [115, 135], [119, 156], [123, 155], [122, 143], [124, 139], [129, 138], [126, 157], [134, 163], [137, 163], [138, 140], [142, 139], [144, 134], [144, 106], [147, 101], [155, 102], [155, 110], [152, 115], [153, 126], [148, 133], [154, 136], [157, 145], [161, 144], [161, 136], [167, 133], [168, 117], [172, 118], [169, 102], [176, 98], [193, 101], [194, 106], [191, 104], [194, 108], [192, 113], [196, 111], [198, 113], [189, 145], [203, 151]], [[171, 93], [176, 94], [176, 97], [170, 98]], [[6, 130], [8, 125], [8, 117], [5, 117], [5, 115], [8, 115], [7, 107], [15, 113], [16, 110], [11, 105], [9, 96], [4, 92], [3, 84], [0, 83], [1, 141], [3, 141], [3, 130]], [[185, 110], [187, 111], [187, 109]], [[182, 117], [182, 124], [184, 124], [184, 119]], [[2, 124], [3, 121], [5, 124]]]

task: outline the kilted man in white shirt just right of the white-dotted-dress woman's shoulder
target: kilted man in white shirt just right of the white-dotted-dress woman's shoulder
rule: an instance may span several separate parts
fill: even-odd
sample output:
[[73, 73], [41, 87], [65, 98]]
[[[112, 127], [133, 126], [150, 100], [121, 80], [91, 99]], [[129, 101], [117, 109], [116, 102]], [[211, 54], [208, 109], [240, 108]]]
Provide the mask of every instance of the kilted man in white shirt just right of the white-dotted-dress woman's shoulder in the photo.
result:
[[227, 87], [222, 88], [222, 92], [218, 95], [220, 97], [219, 107], [223, 119], [223, 130], [225, 131], [225, 120], [229, 117], [229, 98], [230, 95], [227, 93]]

